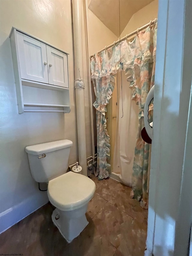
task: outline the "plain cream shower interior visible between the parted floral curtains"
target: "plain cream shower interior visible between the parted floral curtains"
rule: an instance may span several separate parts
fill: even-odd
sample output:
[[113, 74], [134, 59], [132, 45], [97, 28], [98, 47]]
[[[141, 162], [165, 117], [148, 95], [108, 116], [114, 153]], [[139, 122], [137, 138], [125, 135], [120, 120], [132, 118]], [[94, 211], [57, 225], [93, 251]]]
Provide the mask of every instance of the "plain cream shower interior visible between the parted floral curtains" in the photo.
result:
[[[110, 176], [128, 186], [132, 186], [134, 149], [138, 128], [138, 106], [131, 100], [125, 72], [117, 74], [114, 94], [111, 98], [113, 115], [108, 115], [109, 135], [111, 138], [111, 173]], [[114, 97], [115, 96], [115, 97]], [[107, 106], [107, 108], [111, 106]], [[114, 113], [116, 111], [116, 113]], [[112, 120], [110, 120], [112, 119]], [[107, 120], [108, 121], [108, 120]]]

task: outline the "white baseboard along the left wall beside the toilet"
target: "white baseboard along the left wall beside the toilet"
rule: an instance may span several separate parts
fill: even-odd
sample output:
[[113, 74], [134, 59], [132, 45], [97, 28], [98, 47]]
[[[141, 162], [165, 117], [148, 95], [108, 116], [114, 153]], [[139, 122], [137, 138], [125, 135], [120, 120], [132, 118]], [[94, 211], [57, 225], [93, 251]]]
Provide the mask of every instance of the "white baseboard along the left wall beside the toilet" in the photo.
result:
[[49, 199], [46, 192], [37, 192], [21, 203], [1, 212], [0, 234], [48, 202]]

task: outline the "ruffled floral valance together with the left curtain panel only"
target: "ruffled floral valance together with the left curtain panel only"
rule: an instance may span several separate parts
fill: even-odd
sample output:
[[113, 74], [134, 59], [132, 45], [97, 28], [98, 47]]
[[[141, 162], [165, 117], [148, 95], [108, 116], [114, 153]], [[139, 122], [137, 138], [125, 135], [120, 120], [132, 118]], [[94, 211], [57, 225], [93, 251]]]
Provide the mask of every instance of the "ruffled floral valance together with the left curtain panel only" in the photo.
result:
[[[96, 96], [93, 105], [97, 115], [98, 165], [96, 175], [99, 175], [99, 179], [109, 176], [107, 158], [109, 158], [110, 144], [105, 112], [115, 86], [114, 77], [121, 69], [126, 72], [127, 81], [133, 89], [132, 100], [139, 105], [138, 117], [140, 119], [143, 116], [146, 96], [150, 89], [148, 86], [150, 72], [145, 72], [144, 69], [146, 63], [149, 69], [153, 68], [151, 64], [155, 62], [156, 37], [157, 29], [148, 27], [145, 32], [139, 32], [133, 41], [124, 40], [108, 50], [99, 54], [95, 53], [91, 59], [91, 80]], [[146, 83], [140, 77], [142, 67], [144, 68], [142, 75], [145, 76]]]

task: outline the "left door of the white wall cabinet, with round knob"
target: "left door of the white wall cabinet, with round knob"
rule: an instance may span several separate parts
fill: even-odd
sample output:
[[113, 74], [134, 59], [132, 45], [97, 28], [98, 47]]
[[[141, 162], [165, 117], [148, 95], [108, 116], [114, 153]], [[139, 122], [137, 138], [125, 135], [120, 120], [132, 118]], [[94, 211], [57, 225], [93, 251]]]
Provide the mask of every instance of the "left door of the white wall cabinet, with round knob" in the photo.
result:
[[21, 78], [49, 83], [46, 44], [17, 31]]

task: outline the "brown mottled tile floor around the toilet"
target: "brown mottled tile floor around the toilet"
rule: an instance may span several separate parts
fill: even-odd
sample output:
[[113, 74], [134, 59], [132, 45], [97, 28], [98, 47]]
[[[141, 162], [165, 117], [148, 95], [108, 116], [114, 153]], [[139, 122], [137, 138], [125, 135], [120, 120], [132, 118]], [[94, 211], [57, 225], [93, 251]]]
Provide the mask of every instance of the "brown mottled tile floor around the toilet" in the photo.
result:
[[131, 188], [114, 179], [98, 181], [89, 202], [89, 224], [70, 244], [53, 225], [47, 203], [0, 235], [1, 253], [23, 256], [143, 256], [147, 210], [129, 198]]

